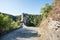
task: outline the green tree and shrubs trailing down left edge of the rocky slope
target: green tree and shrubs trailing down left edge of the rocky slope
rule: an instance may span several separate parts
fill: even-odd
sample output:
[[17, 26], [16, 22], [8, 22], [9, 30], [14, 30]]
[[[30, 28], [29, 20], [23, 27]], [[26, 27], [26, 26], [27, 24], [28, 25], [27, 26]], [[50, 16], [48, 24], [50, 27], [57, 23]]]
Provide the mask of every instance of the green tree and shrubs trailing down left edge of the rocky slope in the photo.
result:
[[40, 25], [40, 23], [41, 23], [41, 21], [42, 21], [42, 19], [44, 18], [44, 17], [48, 17], [48, 15], [49, 15], [49, 12], [52, 10], [52, 6], [51, 5], [49, 5], [48, 3], [41, 9], [41, 15], [39, 16], [39, 21], [38, 21], [38, 25]]

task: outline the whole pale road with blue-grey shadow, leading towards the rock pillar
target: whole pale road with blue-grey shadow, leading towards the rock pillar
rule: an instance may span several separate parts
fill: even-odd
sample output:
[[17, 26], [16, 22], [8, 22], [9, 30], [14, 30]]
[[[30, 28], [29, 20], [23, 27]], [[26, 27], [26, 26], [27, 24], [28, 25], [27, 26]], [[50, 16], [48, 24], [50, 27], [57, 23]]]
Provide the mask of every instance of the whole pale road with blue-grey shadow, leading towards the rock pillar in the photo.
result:
[[12, 31], [2, 37], [0, 40], [38, 40], [37, 28], [23, 27]]

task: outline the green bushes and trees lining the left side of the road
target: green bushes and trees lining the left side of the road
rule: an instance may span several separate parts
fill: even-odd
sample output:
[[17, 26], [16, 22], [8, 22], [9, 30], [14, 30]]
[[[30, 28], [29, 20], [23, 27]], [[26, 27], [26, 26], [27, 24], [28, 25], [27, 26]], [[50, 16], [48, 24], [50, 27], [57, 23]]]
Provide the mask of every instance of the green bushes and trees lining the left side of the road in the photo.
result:
[[0, 12], [0, 34], [18, 28], [19, 21], [17, 17]]

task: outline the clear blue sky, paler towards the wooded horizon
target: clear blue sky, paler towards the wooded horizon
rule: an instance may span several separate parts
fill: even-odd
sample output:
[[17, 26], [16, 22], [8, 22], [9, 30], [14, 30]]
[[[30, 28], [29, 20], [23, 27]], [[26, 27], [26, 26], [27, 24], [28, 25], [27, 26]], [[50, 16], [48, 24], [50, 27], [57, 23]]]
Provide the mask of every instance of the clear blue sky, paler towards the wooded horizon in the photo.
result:
[[40, 14], [40, 9], [52, 0], [0, 0], [0, 12], [21, 15], [22, 13]]

